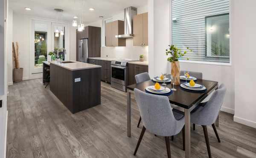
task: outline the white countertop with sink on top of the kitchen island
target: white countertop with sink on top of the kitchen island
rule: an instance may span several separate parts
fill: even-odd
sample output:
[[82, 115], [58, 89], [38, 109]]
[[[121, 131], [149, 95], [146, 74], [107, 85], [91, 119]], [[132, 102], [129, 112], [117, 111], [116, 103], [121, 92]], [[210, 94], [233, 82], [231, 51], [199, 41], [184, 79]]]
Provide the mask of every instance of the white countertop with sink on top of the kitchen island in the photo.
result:
[[71, 71], [102, 67], [100, 65], [88, 64], [86, 62], [76, 62], [76, 61], [71, 61], [71, 62], [72, 63], [61, 63], [61, 62], [54, 61], [54, 62], [50, 62], [50, 64], [58, 65], [62, 68], [66, 68]]

